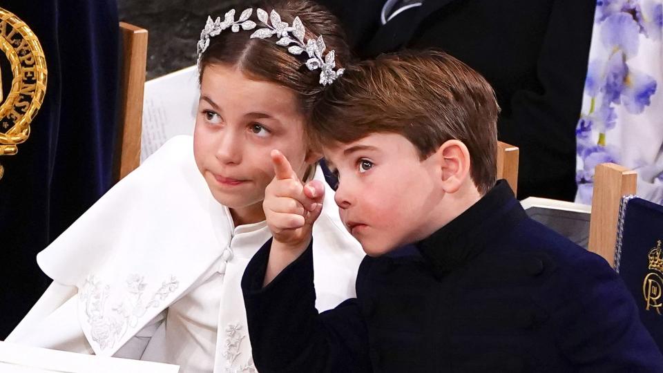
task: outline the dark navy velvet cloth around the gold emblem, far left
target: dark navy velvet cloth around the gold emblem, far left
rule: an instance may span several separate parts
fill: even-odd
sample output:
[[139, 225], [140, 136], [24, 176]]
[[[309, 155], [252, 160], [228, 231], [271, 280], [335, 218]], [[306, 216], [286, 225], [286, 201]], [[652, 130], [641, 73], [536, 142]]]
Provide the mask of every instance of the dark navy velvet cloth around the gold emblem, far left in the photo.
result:
[[0, 157], [3, 339], [50, 283], [37, 253], [111, 187], [119, 30], [115, 0], [1, 0], [0, 7], [35, 32], [48, 66], [28, 141]]

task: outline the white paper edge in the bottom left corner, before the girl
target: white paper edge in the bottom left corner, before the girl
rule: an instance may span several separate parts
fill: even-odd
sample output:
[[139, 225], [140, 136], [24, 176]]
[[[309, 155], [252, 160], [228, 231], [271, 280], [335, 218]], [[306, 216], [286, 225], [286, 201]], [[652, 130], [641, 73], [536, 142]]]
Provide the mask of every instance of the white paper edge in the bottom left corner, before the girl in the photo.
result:
[[128, 358], [75, 354], [0, 342], [3, 373], [177, 373], [178, 365]]

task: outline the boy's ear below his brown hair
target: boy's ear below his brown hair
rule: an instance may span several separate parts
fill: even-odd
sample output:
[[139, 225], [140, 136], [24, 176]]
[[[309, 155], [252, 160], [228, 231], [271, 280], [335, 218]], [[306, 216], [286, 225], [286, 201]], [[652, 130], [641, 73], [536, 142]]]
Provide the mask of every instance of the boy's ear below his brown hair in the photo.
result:
[[448, 140], [436, 151], [440, 162], [441, 187], [455, 193], [470, 177], [470, 151], [459, 140]]

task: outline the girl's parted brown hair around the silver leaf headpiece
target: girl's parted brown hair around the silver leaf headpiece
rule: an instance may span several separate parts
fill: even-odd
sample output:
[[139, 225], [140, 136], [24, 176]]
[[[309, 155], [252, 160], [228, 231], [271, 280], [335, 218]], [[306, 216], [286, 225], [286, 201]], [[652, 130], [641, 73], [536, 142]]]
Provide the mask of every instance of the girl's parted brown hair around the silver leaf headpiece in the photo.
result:
[[[323, 6], [309, 0], [275, 0], [262, 1], [253, 6], [251, 19], [256, 19], [256, 9], [262, 8], [268, 13], [276, 10], [281, 20], [292, 25], [295, 17], [299, 17], [306, 30], [305, 39], [322, 36], [327, 45], [327, 52], [336, 52], [336, 67], [342, 68], [350, 58], [345, 35], [338, 20]], [[224, 64], [235, 66], [242, 73], [265, 82], [280, 84], [294, 91], [302, 115], [308, 119], [311, 109], [325, 88], [319, 83], [320, 69], [309, 70], [305, 66], [306, 54], [291, 55], [287, 47], [276, 45], [278, 39], [250, 39], [255, 30], [231, 32], [224, 30], [211, 37], [209, 47], [200, 59], [200, 79], [206, 66]], [[305, 126], [306, 127], [306, 126]]]

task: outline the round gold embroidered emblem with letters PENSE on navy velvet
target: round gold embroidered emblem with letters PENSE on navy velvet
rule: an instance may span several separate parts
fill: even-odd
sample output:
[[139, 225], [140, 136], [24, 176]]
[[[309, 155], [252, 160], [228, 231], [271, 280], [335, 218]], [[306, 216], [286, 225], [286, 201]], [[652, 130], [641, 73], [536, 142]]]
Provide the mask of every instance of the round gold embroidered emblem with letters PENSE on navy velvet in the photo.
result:
[[[44, 102], [46, 57], [28, 25], [3, 8], [0, 8], [0, 49], [9, 61], [13, 77], [6, 92], [0, 71], [0, 155], [15, 155], [17, 145], [28, 140], [30, 122]], [[3, 171], [0, 165], [0, 179]]]

